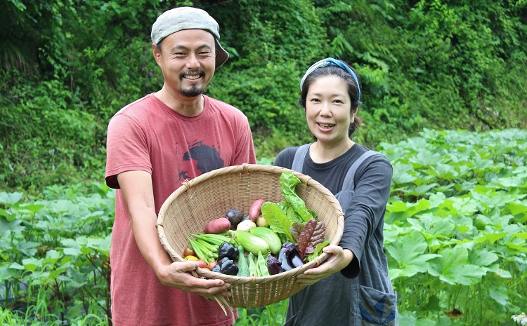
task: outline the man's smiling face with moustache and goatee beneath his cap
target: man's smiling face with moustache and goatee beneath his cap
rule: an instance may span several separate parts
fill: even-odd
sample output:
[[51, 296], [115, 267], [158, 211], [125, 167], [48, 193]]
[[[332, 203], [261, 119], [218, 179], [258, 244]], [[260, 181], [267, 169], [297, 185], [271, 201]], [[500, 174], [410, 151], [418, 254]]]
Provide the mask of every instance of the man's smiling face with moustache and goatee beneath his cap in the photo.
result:
[[214, 36], [203, 29], [185, 29], [161, 41], [161, 51], [152, 46], [164, 76], [164, 86], [174, 96], [196, 97], [214, 75]]

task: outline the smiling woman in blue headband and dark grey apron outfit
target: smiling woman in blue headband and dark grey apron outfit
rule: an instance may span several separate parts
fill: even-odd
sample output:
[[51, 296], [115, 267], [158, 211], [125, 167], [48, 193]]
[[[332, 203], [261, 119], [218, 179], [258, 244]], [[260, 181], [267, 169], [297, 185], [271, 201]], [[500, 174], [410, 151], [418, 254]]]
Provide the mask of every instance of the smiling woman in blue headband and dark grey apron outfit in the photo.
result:
[[274, 165], [323, 184], [345, 218], [339, 245], [324, 248], [330, 259], [298, 277], [308, 286], [289, 299], [285, 325], [398, 325], [382, 233], [392, 168], [384, 156], [350, 139], [363, 125], [358, 75], [328, 57], [307, 70], [300, 88], [315, 142], [282, 150]]

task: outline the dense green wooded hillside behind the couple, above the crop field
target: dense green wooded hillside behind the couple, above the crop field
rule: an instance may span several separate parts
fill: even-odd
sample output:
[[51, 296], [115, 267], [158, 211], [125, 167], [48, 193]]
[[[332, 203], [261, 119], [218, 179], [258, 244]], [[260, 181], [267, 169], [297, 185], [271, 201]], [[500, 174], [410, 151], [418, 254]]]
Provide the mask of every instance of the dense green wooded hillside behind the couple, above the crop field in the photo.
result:
[[311, 140], [299, 80], [323, 57], [358, 70], [369, 147], [527, 125], [525, 0], [3, 0], [0, 189], [103, 179], [110, 117], [162, 86], [152, 22], [182, 5], [219, 22], [207, 94], [248, 116], [259, 160]]

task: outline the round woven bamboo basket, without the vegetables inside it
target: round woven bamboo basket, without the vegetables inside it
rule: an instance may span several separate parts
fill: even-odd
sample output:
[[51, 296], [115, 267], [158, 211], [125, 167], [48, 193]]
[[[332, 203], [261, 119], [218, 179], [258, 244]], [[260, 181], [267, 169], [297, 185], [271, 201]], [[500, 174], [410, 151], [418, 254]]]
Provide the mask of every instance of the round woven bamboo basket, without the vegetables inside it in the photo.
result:
[[[280, 192], [280, 175], [293, 172], [301, 183], [297, 194], [314, 210], [326, 226], [326, 236], [337, 245], [344, 230], [344, 213], [332, 193], [311, 177], [286, 168], [271, 165], [243, 164], [220, 168], [185, 181], [167, 198], [157, 217], [160, 241], [174, 262], [183, 262], [182, 253], [188, 246], [191, 233], [203, 233], [211, 219], [224, 217], [229, 208], [240, 208], [245, 214], [258, 198], [278, 203], [284, 198]], [[194, 275], [230, 283], [231, 297], [217, 294], [214, 299], [226, 312], [233, 307], [253, 308], [282, 301], [299, 292], [297, 276], [307, 269], [322, 264], [328, 254], [321, 254], [312, 262], [273, 276], [240, 277], [198, 268]]]

